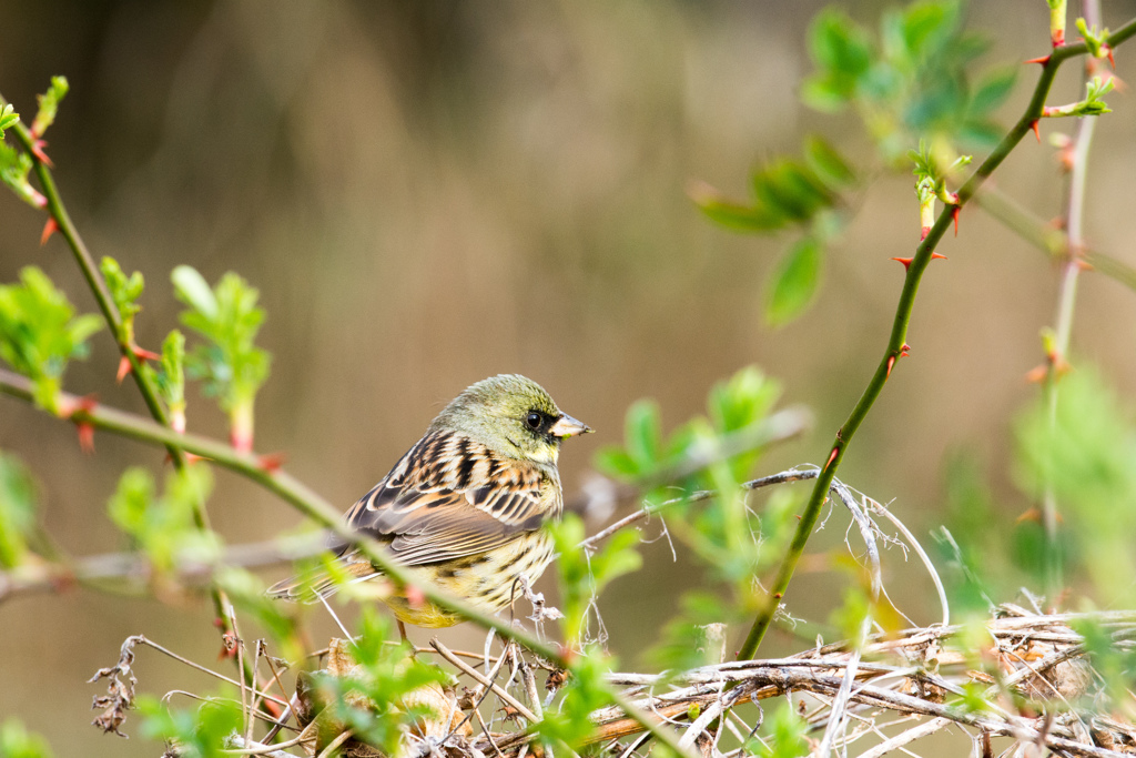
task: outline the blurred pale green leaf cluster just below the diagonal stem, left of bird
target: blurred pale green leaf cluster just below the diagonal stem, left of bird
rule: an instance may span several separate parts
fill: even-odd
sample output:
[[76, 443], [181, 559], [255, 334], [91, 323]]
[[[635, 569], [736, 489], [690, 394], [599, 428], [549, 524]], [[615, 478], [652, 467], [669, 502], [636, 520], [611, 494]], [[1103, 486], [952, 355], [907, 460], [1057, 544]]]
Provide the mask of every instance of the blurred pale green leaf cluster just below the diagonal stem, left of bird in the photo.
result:
[[123, 473], [108, 503], [110, 519], [143, 550], [159, 572], [179, 560], [211, 561], [220, 547], [217, 535], [198, 527], [194, 511], [212, 490], [208, 466], [189, 466], [166, 477], [158, 495], [153, 476], [144, 468]]

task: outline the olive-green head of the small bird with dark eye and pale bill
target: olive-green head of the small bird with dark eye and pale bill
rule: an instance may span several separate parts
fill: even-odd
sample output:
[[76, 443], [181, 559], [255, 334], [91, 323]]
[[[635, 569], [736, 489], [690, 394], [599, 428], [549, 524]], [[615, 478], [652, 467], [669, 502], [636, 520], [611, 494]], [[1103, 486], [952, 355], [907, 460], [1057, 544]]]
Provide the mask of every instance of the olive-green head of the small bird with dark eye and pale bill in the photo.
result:
[[563, 440], [592, 428], [561, 411], [533, 380], [501, 374], [467, 388], [431, 431], [459, 432], [509, 458], [554, 465]]

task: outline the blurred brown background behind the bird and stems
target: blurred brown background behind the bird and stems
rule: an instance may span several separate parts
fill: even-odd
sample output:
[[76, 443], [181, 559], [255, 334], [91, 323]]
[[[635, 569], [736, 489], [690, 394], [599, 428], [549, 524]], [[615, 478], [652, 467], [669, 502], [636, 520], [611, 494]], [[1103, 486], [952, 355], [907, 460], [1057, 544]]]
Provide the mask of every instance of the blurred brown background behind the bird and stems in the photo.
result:
[[[260, 288], [261, 342], [275, 363], [257, 447], [286, 451], [291, 472], [344, 508], [444, 402], [501, 372], [532, 376], [599, 430], [562, 457], [571, 492], [593, 451], [621, 438], [633, 400], [657, 398], [671, 426], [702, 409], [716, 380], [755, 363], [818, 418], [808, 439], [755, 472], [771, 473], [821, 463], [891, 325], [901, 270], [888, 258], [909, 255], [919, 234], [911, 178], [874, 184], [827, 260], [817, 306], [775, 332], [761, 323], [761, 290], [785, 240], [720, 231], [685, 195], [692, 178], [742, 194], [751, 165], [795, 151], [809, 131], [869, 160], [851, 116], [822, 117], [795, 98], [810, 68], [804, 31], [820, 5], [8, 1], [0, 92], [31, 115], [52, 74], [69, 78], [49, 152], [92, 251], [147, 277], [142, 345], [157, 348], [176, 323], [168, 277], [178, 263], [210, 282], [233, 269]], [[871, 24], [885, 7], [846, 5]], [[1110, 0], [1104, 11], [1116, 26], [1136, 3]], [[1041, 0], [974, 3], [970, 16], [999, 35], [991, 63], [1045, 50]], [[1130, 51], [1118, 57], [1120, 76], [1136, 80]], [[1054, 102], [1079, 93], [1077, 68], [1067, 66]], [[1004, 122], [1033, 81], [1027, 72]], [[1136, 264], [1136, 110], [1130, 95], [1110, 102], [1117, 113], [1097, 131], [1087, 230], [1094, 245]], [[1024, 143], [999, 183], [1045, 217], [1059, 211], [1047, 145]], [[37, 248], [42, 224], [0, 193], [0, 280], [35, 264], [94, 310], [62, 242]], [[980, 211], [963, 214], [961, 235], [942, 252], [950, 261], [920, 291], [912, 357], [841, 472], [894, 499], [919, 534], [938, 523], [941, 464], [959, 445], [988, 460], [1002, 507], [1025, 507], [1004, 473], [1009, 424], [1036, 392], [1024, 375], [1039, 363], [1038, 330], [1054, 309], [1051, 266]], [[1136, 390], [1134, 323], [1131, 292], [1085, 277], [1078, 355], [1126, 394]], [[128, 382], [114, 384], [109, 336], [94, 347], [68, 389], [141, 409]], [[224, 434], [195, 391], [190, 425]], [[97, 445], [84, 457], [69, 425], [0, 398], [0, 448], [34, 468], [43, 519], [75, 555], [122, 547], [105, 515], [118, 475], [131, 464], [162, 466], [161, 452], [133, 442], [99, 434]], [[231, 542], [300, 522], [225, 473], [209, 508]], [[901, 563], [889, 586], [927, 623], [922, 577]], [[665, 541], [650, 547], [644, 572], [607, 595], [613, 651], [635, 665], [674, 610], [675, 589], [699, 581], [698, 569], [671, 563]], [[838, 598], [825, 575], [794, 588], [799, 615], [825, 618]], [[60, 756], [156, 755], [152, 743], [87, 726], [101, 686], [84, 680], [135, 633], [210, 663], [218, 642], [209, 619], [206, 603], [85, 592], [7, 602], [0, 716], [19, 716]], [[469, 630], [450, 635], [481, 640]], [[212, 686], [151, 652], [136, 670], [141, 689], [159, 694]]]

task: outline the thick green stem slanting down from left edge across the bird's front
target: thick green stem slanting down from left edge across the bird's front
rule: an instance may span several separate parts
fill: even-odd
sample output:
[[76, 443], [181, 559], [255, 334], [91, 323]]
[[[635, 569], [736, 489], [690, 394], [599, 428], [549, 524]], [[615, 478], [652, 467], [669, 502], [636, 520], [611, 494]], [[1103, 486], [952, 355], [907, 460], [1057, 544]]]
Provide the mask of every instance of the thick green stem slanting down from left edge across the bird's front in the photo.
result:
[[[0, 369], [0, 394], [8, 394], [32, 402], [32, 382], [18, 374]], [[78, 410], [72, 414], [70, 420], [91, 424], [95, 428], [114, 432], [148, 444], [177, 444], [186, 452], [208, 458], [223, 468], [250, 478], [290, 502], [296, 510], [329, 530], [343, 541], [354, 544], [359, 552], [366, 556], [377, 568], [382, 569], [383, 574], [399, 586], [412, 586], [421, 592], [423, 597], [427, 600], [441, 606], [445, 610], [459, 614], [462, 618], [474, 622], [484, 628], [495, 630], [501, 636], [525, 645], [536, 655], [549, 660], [554, 660], [565, 668], [571, 668], [570, 656], [566, 655], [559, 645], [544, 642], [529, 632], [513, 626], [509, 620], [478, 610], [449, 592], [437, 589], [437, 586], [429, 582], [421, 581], [412, 572], [393, 560], [382, 544], [348, 527], [343, 523], [341, 514], [316, 492], [285, 472], [266, 467], [258, 456], [241, 452], [224, 442], [218, 442], [210, 438], [187, 433], [178, 434], [148, 418], [98, 403], [87, 403], [85, 407], [80, 406], [80, 398], [66, 392], [61, 392], [60, 395], [65, 403], [72, 403], [78, 408]], [[671, 730], [666, 728], [649, 714], [632, 706], [626, 698], [612, 688], [603, 686], [611, 701], [623, 708], [643, 728], [651, 732], [655, 739], [674, 750], [676, 755], [693, 758], [688, 750], [678, 744], [678, 736]]]

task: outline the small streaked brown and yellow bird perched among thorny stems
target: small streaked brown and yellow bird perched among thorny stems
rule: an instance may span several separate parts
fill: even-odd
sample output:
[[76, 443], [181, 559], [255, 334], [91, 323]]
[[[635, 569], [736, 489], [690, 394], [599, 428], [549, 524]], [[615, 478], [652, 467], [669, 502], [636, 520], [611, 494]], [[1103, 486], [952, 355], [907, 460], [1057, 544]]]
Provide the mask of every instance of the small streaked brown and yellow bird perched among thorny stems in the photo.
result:
[[[502, 374], [477, 382], [433, 420], [426, 434], [344, 516], [423, 580], [495, 613], [509, 606], [552, 561], [542, 526], [560, 517], [560, 443], [591, 432], [561, 413], [536, 382]], [[285, 580], [268, 594], [312, 601], [382, 570], [349, 545], [335, 569]], [[384, 598], [401, 623], [452, 626], [463, 620], [406, 592]]]

